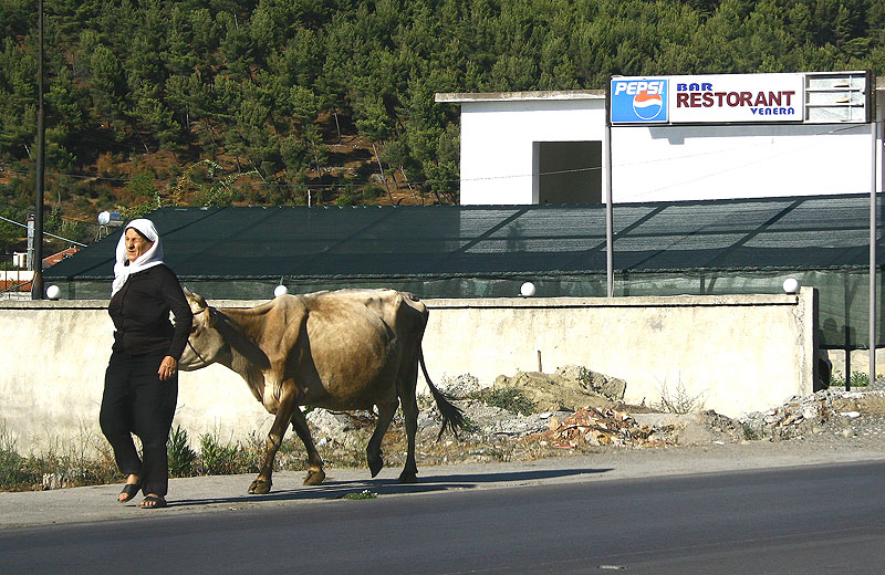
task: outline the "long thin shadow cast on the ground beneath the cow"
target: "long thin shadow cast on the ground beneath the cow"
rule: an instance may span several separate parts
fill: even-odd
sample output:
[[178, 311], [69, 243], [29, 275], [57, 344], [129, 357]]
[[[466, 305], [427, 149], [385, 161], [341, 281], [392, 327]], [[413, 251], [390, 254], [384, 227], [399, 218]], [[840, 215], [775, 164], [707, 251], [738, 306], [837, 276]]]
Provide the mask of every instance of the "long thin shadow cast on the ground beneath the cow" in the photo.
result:
[[[556, 469], [556, 470], [533, 470], [499, 473], [467, 473], [451, 475], [434, 475], [418, 479], [417, 483], [398, 483], [395, 479], [368, 479], [361, 481], [335, 481], [334, 471], [330, 471], [330, 477], [321, 485], [310, 485], [298, 489], [274, 490], [266, 495], [243, 495], [235, 498], [208, 498], [208, 499], [183, 499], [169, 501], [169, 506], [191, 506], [210, 504], [232, 504], [232, 503], [257, 503], [262, 501], [299, 501], [299, 500], [324, 500], [342, 499], [347, 494], [369, 491], [378, 495], [392, 495], [403, 493], [430, 493], [434, 491], [447, 491], [451, 489], [472, 489], [482, 484], [491, 483], [522, 483], [528, 481], [540, 481], [573, 475], [584, 475], [592, 473], [605, 473], [611, 469]], [[243, 491], [248, 483], [243, 483]]]

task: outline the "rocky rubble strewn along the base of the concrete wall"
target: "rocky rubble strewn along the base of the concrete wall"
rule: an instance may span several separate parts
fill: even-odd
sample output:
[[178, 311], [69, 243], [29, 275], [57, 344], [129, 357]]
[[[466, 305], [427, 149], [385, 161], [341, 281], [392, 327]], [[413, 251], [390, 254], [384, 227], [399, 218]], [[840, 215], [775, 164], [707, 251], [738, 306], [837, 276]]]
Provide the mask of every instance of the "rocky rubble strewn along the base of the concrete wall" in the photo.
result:
[[[566, 366], [549, 376], [517, 373], [482, 388], [469, 375], [444, 377], [440, 388], [462, 409], [466, 427], [457, 438], [436, 441], [440, 416], [429, 395], [418, 398], [418, 457], [423, 464], [457, 461], [509, 461], [597, 451], [605, 447], [641, 449], [670, 446], [711, 446], [754, 440], [845, 441], [885, 438], [885, 390], [846, 393], [827, 389], [794, 397], [780, 407], [731, 419], [712, 410], [666, 412], [646, 406], [629, 406], [623, 381]], [[518, 389], [520, 394], [483, 394]], [[512, 397], [511, 397], [512, 396]], [[528, 399], [530, 412], [499, 399]], [[494, 401], [489, 401], [494, 399]], [[522, 406], [522, 402], [519, 404]], [[362, 464], [365, 443], [372, 435], [372, 412], [335, 414], [315, 409], [308, 415], [317, 447], [324, 457]], [[397, 412], [385, 438], [388, 466], [402, 463], [405, 431]], [[350, 458], [350, 459], [346, 459]]]

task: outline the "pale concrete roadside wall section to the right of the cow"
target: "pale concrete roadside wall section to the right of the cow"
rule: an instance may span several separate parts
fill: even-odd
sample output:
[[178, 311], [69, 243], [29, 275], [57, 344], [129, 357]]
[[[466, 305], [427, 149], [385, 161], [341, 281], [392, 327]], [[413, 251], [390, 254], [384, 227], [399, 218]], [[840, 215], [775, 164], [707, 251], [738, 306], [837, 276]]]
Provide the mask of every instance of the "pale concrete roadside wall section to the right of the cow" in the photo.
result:
[[[814, 291], [796, 295], [427, 300], [431, 374], [553, 373], [582, 365], [624, 379], [625, 401], [666, 391], [728, 417], [813, 390]], [[459, 334], [452, 337], [452, 334]], [[469, 336], [467, 336], [469, 334]], [[437, 380], [439, 376], [436, 376]], [[678, 390], [678, 391], [677, 391]]]

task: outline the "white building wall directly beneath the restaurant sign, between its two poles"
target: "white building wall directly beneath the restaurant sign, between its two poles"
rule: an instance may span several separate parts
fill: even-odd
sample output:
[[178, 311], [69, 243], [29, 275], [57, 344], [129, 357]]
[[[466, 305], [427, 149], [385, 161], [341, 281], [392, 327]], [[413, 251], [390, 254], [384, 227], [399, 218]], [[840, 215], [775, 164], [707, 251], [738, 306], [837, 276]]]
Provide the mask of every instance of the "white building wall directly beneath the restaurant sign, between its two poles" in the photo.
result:
[[864, 124], [618, 126], [612, 196], [641, 202], [864, 194], [873, 151]]

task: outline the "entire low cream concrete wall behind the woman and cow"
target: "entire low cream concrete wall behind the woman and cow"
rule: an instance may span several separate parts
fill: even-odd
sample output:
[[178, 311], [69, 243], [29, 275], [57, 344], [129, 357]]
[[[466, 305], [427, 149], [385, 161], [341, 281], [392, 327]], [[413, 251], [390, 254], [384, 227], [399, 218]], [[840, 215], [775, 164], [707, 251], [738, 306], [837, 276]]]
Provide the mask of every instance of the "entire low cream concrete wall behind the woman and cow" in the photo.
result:
[[[435, 381], [584, 365], [627, 381], [627, 400], [666, 386], [735, 417], [812, 391], [814, 291], [799, 295], [428, 300]], [[219, 307], [259, 302], [210, 302]], [[106, 302], [0, 302], [0, 431], [27, 452], [102, 445], [97, 426], [113, 325]], [[266, 433], [270, 416], [223, 367], [185, 373], [175, 425], [196, 439]]]

